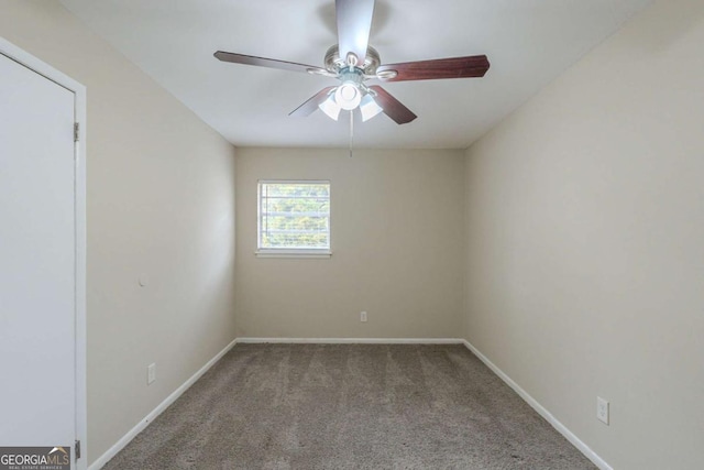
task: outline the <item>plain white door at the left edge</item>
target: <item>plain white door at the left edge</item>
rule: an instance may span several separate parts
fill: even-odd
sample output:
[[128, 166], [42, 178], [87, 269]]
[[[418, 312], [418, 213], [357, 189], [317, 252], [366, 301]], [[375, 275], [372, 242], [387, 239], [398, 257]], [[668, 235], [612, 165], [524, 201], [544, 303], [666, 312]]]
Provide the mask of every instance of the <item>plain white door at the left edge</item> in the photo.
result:
[[73, 91], [0, 54], [0, 446], [76, 438], [74, 122]]

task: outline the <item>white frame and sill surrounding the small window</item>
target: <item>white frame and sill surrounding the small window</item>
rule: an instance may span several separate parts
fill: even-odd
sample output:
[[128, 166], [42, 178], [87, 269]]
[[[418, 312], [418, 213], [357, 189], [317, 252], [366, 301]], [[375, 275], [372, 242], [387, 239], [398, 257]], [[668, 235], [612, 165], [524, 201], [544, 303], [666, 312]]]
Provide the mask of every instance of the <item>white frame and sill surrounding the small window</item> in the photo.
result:
[[[262, 185], [328, 185], [328, 248], [262, 248]], [[256, 251], [257, 258], [330, 258], [332, 255], [332, 184], [330, 179], [258, 179], [256, 182]]]

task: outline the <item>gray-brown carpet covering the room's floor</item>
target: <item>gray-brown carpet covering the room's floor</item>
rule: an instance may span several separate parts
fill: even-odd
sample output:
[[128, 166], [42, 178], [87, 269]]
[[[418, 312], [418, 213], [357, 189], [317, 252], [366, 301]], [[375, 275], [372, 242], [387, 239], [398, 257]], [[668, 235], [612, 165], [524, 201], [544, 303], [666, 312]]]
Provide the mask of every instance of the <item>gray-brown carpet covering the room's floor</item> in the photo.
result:
[[463, 346], [238, 345], [105, 468], [596, 467]]

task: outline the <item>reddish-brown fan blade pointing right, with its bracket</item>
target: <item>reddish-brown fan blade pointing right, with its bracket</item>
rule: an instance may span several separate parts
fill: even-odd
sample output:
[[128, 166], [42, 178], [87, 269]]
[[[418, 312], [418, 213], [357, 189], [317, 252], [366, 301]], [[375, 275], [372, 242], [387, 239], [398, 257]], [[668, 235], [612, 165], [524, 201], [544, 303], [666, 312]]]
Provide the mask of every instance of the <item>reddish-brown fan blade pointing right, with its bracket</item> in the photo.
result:
[[472, 55], [468, 57], [386, 64], [380, 66], [376, 73], [391, 70], [397, 73], [392, 78], [384, 78], [384, 74], [381, 74], [380, 78], [384, 81], [435, 80], [438, 78], [483, 77], [490, 63], [485, 55]]

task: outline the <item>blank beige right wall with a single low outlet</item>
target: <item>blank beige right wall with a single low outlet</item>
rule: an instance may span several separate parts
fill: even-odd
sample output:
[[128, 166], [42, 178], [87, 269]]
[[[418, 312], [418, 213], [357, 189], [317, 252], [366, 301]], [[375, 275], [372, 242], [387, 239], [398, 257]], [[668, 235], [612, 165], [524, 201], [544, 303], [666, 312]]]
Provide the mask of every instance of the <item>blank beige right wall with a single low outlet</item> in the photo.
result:
[[468, 338], [615, 469], [704, 462], [703, 45], [659, 0], [466, 155]]

